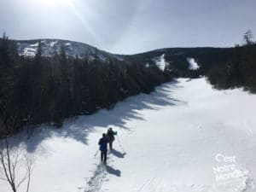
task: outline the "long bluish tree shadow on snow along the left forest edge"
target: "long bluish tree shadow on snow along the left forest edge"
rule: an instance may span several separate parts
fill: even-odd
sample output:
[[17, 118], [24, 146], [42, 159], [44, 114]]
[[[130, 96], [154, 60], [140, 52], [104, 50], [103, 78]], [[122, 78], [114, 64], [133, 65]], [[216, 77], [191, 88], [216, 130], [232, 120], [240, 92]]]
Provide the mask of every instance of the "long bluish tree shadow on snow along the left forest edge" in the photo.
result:
[[[78, 116], [76, 119], [65, 120], [64, 125], [59, 129], [52, 129], [50, 126], [42, 125], [34, 131], [32, 138], [26, 141], [27, 151], [32, 153], [38, 145], [47, 138], [61, 137], [71, 138], [78, 142], [88, 144], [88, 135], [95, 127], [102, 127], [102, 131], [110, 125], [129, 130], [126, 123], [132, 120], [144, 120], [143, 109], [160, 110], [166, 106], [183, 105], [185, 102], [172, 98], [172, 91], [180, 89], [177, 81], [162, 84], [155, 88], [151, 94], [140, 94], [131, 96], [122, 102], [118, 102], [112, 110], [102, 109], [92, 115]], [[115, 153], [117, 156], [117, 152]]]

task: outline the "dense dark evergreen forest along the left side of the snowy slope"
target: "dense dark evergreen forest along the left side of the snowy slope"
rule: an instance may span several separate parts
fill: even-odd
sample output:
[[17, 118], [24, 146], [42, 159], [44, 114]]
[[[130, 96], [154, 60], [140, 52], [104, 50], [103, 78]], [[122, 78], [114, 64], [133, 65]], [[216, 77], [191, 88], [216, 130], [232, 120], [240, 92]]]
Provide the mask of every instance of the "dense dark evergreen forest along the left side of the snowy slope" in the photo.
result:
[[[61, 126], [63, 119], [113, 108], [127, 96], [149, 93], [171, 79], [158, 67], [94, 55], [67, 57], [65, 47], [45, 57], [42, 44], [34, 57], [19, 55], [16, 45], [0, 39], [0, 135], [42, 123]], [[6, 130], [9, 124], [11, 130]], [[2, 128], [1, 128], [2, 127]]]

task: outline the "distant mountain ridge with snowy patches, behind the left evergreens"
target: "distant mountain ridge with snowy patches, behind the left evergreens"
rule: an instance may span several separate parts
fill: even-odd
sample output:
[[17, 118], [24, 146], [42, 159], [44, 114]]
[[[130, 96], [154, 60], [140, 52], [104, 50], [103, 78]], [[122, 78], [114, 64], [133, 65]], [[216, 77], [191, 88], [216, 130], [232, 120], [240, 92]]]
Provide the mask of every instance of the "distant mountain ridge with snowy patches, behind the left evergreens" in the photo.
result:
[[[77, 41], [55, 39], [55, 38], [39, 38], [29, 40], [10, 40], [15, 43], [18, 54], [24, 56], [34, 56], [37, 53], [38, 43], [41, 42], [42, 53], [44, 56], [53, 56], [55, 53], [60, 54], [61, 49], [65, 49], [67, 57], [79, 57], [84, 59], [87, 57], [89, 60], [99, 58], [101, 61], [107, 60], [119, 60], [127, 62], [136, 62], [144, 66], [150, 67], [156, 65], [161, 70], [167, 69], [178, 73], [177, 76], [187, 76], [189, 73], [189, 61], [188, 58], [195, 59], [198, 62], [199, 67], [202, 67], [206, 62], [205, 57], [212, 55], [226, 55], [230, 54], [232, 48], [214, 48], [214, 47], [195, 47], [195, 48], [160, 48], [149, 50], [143, 53], [137, 53], [132, 55], [119, 55], [111, 52], [98, 49], [96, 46], [85, 44]], [[162, 58], [160, 61], [159, 58]], [[160, 64], [161, 62], [161, 64]], [[196, 73], [195, 76], [198, 76]], [[201, 73], [202, 74], [202, 73]], [[194, 76], [194, 74], [193, 74]]]

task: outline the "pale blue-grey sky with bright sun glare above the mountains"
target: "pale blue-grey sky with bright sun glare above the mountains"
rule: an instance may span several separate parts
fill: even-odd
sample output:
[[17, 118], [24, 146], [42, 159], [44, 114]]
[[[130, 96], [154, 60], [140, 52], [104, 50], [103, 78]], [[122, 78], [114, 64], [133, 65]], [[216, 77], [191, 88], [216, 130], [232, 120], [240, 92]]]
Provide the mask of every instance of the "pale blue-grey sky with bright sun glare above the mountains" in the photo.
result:
[[256, 34], [255, 0], [0, 0], [0, 32], [58, 38], [112, 53], [230, 47]]

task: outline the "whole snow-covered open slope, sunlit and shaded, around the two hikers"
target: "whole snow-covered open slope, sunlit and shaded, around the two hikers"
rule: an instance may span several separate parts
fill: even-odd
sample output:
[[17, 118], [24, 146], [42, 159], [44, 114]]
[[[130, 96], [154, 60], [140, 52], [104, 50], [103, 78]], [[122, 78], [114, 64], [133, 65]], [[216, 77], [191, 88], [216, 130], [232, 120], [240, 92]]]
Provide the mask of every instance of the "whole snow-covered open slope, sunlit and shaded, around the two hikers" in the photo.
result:
[[[242, 90], [177, 79], [112, 111], [44, 128], [26, 143], [36, 158], [31, 191], [253, 192], [255, 108], [256, 96]], [[97, 142], [109, 126], [119, 137], [104, 167]]]

